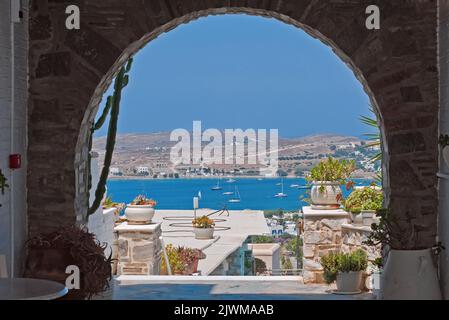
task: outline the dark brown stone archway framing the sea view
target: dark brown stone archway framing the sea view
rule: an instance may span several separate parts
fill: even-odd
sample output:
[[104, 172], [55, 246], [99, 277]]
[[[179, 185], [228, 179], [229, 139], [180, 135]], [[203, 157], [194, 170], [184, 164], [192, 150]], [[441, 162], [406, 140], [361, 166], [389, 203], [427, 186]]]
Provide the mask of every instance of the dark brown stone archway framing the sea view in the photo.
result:
[[[65, 8], [81, 29], [65, 29]], [[380, 30], [365, 10], [381, 9]], [[210, 14], [247, 13], [296, 25], [330, 45], [377, 107], [387, 194], [423, 247], [437, 230], [436, 1], [146, 0], [40, 1], [30, 11], [28, 221], [31, 234], [85, 220], [87, 132], [119, 67], [146, 43]], [[49, 157], [49, 154], [51, 156]]]

